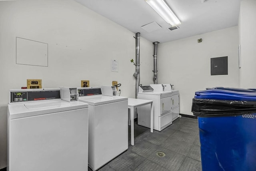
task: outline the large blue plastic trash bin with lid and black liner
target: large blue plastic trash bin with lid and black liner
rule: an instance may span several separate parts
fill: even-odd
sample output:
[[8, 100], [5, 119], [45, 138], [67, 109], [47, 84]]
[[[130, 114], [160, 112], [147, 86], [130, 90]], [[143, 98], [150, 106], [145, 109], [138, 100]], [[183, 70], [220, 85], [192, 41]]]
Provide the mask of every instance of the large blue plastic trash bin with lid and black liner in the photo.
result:
[[203, 171], [256, 171], [256, 91], [197, 91]]

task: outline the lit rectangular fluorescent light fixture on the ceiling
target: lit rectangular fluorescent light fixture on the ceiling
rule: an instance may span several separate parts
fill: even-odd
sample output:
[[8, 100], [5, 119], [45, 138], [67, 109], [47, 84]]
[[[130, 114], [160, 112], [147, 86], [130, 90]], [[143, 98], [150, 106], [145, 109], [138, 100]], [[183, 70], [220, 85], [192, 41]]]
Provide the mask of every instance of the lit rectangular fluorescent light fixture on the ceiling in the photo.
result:
[[167, 23], [172, 26], [181, 24], [180, 20], [175, 16], [170, 7], [164, 0], [145, 0], [151, 8], [153, 8]]

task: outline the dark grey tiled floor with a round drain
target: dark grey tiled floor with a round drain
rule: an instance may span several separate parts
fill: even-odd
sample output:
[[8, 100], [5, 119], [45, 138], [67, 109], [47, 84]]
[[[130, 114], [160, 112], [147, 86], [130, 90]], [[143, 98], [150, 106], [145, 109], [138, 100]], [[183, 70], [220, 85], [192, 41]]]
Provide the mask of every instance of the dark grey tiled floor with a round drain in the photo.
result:
[[180, 117], [153, 133], [135, 123], [134, 130], [134, 146], [129, 141], [127, 151], [98, 171], [202, 171], [197, 119]]

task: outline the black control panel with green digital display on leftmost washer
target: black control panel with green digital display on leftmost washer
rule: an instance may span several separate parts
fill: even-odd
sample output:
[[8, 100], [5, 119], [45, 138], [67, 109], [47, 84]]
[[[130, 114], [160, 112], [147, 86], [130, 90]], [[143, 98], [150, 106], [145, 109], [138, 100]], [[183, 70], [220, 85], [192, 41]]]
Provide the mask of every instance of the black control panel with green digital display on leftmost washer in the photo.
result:
[[11, 91], [10, 92], [10, 103], [20, 101], [38, 101], [48, 99], [61, 99], [60, 89], [56, 90], [44, 90], [36, 89], [35, 91]]

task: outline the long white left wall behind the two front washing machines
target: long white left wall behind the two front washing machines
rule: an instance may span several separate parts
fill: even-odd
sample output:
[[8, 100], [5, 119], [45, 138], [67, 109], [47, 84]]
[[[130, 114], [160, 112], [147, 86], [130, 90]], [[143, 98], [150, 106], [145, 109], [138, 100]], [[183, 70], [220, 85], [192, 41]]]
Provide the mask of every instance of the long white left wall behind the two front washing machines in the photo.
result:
[[[43, 88], [111, 85], [135, 97], [135, 33], [72, 0], [0, 1], [0, 169], [6, 167], [9, 89], [42, 79]], [[142, 35], [141, 35], [142, 36]], [[48, 43], [48, 67], [16, 64], [16, 37]], [[140, 39], [140, 83], [152, 83], [152, 42]], [[118, 72], [111, 72], [111, 59]], [[150, 73], [150, 74], [148, 74]]]

